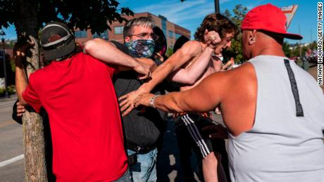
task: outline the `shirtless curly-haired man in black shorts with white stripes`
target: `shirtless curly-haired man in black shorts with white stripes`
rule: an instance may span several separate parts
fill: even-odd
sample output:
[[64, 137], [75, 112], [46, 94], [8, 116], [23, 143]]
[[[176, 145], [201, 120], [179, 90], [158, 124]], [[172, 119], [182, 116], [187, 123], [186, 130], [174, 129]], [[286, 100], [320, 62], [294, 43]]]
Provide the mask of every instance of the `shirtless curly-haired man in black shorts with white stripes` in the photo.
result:
[[[221, 26], [220, 26], [221, 25]], [[218, 32], [218, 33], [216, 33]], [[120, 97], [123, 100], [120, 103], [123, 115], [127, 115], [135, 106], [135, 100], [141, 93], [149, 93], [154, 87], [163, 81], [171, 72], [170, 77], [174, 82], [185, 83], [181, 87], [181, 91], [191, 89], [197, 86], [204, 77], [212, 74], [213, 72], [220, 71], [222, 69], [222, 63], [216, 55], [220, 55], [224, 48], [228, 48], [231, 43], [231, 39], [237, 33], [237, 27], [220, 14], [212, 13], [204, 18], [201, 26], [198, 28], [194, 41], [188, 41], [177, 52], [175, 52], [165, 63], [160, 65], [151, 75], [151, 80], [143, 84], [137, 91], [128, 93], [125, 96]], [[219, 39], [218, 34], [221, 39]], [[204, 64], [194, 64], [197, 61]], [[177, 74], [178, 70], [185, 68], [189, 70], [195, 66], [194, 72], [190, 72], [189, 77], [183, 77]], [[196, 67], [197, 66], [197, 67]], [[199, 67], [199, 69], [198, 69]], [[183, 69], [182, 69], [183, 70]], [[194, 77], [194, 79], [192, 79]], [[190, 80], [191, 82], [188, 82]], [[199, 114], [196, 115], [181, 115], [179, 119], [186, 117], [186, 119], [201, 119]], [[190, 117], [190, 118], [187, 118]], [[194, 117], [194, 118], [191, 118]], [[201, 138], [200, 134], [193, 133], [192, 127], [194, 123], [186, 124], [184, 118], [182, 123], [188, 127], [188, 131], [192, 134], [195, 142], [199, 146], [201, 151], [201, 157], [203, 158], [203, 174], [205, 181], [217, 181], [217, 160], [213, 153], [213, 148], [208, 145], [208, 142], [204, 142], [204, 138]], [[199, 137], [195, 137], [199, 136]], [[201, 142], [202, 141], [202, 142]], [[215, 170], [210, 170], [215, 169]]]

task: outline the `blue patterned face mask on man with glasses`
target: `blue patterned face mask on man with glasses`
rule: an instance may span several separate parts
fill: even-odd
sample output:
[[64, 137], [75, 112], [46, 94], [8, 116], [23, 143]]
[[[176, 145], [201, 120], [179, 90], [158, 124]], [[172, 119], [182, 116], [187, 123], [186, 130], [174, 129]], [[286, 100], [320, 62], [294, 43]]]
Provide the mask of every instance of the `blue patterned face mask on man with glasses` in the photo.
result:
[[150, 58], [154, 53], [155, 42], [151, 39], [137, 39], [125, 43], [125, 46], [135, 58]]

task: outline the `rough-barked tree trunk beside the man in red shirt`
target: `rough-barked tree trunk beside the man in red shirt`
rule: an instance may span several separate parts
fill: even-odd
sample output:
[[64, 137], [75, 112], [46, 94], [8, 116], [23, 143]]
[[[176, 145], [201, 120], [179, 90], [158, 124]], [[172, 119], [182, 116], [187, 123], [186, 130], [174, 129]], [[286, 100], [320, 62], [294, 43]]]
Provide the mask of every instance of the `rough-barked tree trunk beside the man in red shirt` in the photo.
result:
[[[25, 70], [27, 77], [39, 69], [39, 44], [38, 31], [39, 22], [37, 19], [37, 1], [19, 0], [20, 19], [15, 22], [15, 29], [18, 41], [23, 37], [30, 37], [35, 42], [34, 48], [30, 49], [30, 56], [27, 56], [29, 63]], [[25, 152], [25, 181], [47, 181], [44, 125], [42, 117], [36, 112], [26, 111], [23, 115], [23, 138]]]

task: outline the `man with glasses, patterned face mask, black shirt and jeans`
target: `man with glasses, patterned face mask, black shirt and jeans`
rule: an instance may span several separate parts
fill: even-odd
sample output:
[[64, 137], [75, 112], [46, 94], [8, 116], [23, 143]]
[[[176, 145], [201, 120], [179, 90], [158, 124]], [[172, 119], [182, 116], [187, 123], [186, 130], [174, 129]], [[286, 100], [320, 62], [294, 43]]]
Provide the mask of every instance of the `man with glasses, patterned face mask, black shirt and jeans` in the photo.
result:
[[[126, 49], [133, 58], [151, 58], [154, 53], [155, 40], [152, 18], [140, 17], [126, 22], [123, 36], [125, 44], [114, 42], [120, 50]], [[148, 60], [153, 63], [152, 60]], [[136, 72], [121, 72], [113, 79], [118, 97], [135, 91], [142, 85]], [[152, 93], [163, 93], [155, 89]], [[154, 108], [133, 110], [123, 117], [125, 145], [130, 162], [130, 171], [134, 181], [156, 181], [156, 143], [161, 135], [166, 112]]]

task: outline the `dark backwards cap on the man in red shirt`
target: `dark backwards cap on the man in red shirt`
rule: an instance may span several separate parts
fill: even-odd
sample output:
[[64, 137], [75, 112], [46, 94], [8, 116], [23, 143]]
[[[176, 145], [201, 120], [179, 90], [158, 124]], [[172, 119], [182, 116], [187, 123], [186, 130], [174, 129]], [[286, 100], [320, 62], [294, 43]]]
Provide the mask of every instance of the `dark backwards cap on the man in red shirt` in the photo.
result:
[[42, 29], [40, 44], [46, 60], [68, 56], [75, 50], [74, 36], [68, 26], [61, 22], [49, 22]]

